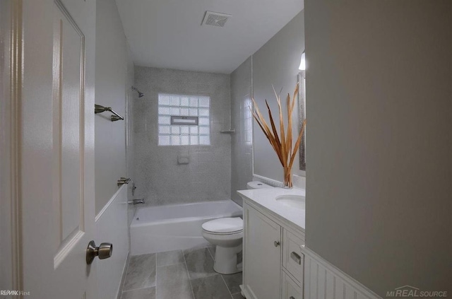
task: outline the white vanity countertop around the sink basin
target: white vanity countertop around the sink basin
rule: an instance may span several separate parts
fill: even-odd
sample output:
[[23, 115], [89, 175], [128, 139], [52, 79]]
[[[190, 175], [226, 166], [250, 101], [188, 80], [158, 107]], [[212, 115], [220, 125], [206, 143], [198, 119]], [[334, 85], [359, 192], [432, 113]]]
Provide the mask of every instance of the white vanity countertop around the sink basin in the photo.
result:
[[266, 209], [282, 218], [285, 218], [285, 220], [297, 225], [304, 231], [306, 210], [290, 208], [275, 200], [275, 197], [285, 194], [305, 196], [306, 192], [304, 189], [298, 189], [295, 187], [292, 189], [250, 189], [239, 190], [237, 191], [237, 193], [239, 193], [240, 196], [244, 198], [244, 200], [253, 201], [263, 209]]

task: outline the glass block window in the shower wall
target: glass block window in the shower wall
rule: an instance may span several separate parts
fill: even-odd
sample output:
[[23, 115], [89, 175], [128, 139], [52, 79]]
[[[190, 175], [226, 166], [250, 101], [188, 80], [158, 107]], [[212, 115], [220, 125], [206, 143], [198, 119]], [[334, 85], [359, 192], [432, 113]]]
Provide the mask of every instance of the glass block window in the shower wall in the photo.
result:
[[[197, 124], [172, 124], [171, 117], [198, 117]], [[210, 97], [158, 95], [159, 146], [209, 146]]]

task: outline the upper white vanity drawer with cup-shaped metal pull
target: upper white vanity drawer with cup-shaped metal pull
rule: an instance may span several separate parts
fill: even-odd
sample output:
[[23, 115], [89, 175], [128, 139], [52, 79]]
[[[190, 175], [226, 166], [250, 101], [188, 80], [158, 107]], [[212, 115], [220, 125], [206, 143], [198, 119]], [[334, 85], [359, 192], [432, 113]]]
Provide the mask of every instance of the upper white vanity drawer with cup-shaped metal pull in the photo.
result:
[[304, 237], [283, 230], [283, 267], [295, 277], [298, 284], [303, 282], [304, 257], [299, 250], [301, 245], [304, 245]]

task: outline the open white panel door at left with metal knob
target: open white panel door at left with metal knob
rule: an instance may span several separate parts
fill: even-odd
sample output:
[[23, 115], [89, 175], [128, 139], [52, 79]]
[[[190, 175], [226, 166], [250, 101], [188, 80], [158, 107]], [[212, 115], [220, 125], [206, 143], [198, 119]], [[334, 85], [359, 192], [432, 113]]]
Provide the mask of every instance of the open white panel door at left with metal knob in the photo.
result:
[[95, 1], [20, 2], [21, 288], [94, 299]]

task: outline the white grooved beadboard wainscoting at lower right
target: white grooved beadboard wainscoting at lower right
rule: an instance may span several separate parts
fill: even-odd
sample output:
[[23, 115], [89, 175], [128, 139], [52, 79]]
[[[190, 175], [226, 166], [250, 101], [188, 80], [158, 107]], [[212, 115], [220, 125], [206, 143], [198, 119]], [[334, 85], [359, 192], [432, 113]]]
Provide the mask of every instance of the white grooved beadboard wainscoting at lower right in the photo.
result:
[[340, 269], [302, 246], [304, 299], [381, 299]]

